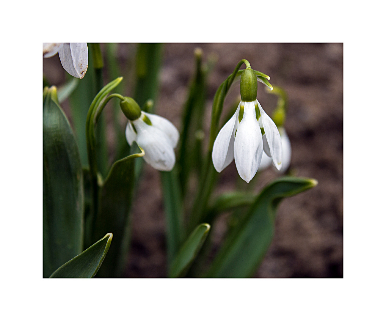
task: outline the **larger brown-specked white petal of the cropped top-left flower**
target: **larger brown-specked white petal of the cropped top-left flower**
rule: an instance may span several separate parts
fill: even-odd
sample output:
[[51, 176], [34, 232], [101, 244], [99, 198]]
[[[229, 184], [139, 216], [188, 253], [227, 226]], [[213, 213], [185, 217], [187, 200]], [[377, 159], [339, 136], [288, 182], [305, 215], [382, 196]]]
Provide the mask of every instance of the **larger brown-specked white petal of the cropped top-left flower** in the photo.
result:
[[88, 67], [88, 49], [86, 42], [64, 43], [59, 48], [59, 58], [63, 68], [76, 78], [82, 79]]

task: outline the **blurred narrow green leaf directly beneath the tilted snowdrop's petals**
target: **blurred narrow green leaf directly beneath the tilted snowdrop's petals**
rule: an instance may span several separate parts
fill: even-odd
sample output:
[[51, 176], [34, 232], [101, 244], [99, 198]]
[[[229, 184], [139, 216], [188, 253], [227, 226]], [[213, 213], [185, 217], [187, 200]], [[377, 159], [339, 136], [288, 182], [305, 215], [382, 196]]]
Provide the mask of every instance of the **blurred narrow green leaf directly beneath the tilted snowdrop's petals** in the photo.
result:
[[183, 237], [183, 208], [176, 167], [170, 172], [160, 172], [166, 218], [166, 245], [168, 266], [176, 256]]

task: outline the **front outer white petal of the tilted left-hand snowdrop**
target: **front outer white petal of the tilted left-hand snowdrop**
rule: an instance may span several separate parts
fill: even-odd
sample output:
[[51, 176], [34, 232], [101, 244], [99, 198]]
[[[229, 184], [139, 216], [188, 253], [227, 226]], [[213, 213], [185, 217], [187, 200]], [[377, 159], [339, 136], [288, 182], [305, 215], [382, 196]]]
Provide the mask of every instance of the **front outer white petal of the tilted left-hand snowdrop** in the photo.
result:
[[171, 171], [176, 155], [169, 137], [158, 128], [147, 125], [141, 118], [134, 120], [133, 125], [137, 130], [135, 141], [145, 151], [145, 162], [159, 171]]

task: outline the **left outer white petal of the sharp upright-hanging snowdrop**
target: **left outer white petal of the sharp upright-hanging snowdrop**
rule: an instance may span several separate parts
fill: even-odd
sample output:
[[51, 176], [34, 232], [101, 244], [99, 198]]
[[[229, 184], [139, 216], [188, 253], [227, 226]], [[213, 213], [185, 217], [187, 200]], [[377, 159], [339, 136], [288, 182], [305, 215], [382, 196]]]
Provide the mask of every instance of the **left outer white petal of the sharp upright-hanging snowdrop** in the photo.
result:
[[235, 131], [237, 129], [240, 105], [237, 106], [236, 112], [227, 121], [223, 128], [218, 133], [212, 150], [213, 166], [217, 172], [221, 172], [233, 160], [233, 150], [235, 143]]

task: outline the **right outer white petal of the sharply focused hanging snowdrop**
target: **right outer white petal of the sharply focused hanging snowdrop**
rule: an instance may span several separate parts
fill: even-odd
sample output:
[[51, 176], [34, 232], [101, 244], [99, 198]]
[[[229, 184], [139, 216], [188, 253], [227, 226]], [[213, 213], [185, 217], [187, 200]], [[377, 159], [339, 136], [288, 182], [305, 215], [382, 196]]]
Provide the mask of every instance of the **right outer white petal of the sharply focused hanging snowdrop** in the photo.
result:
[[[269, 148], [269, 153], [267, 155], [271, 154], [272, 162], [274, 166], [280, 170], [281, 169], [281, 159], [282, 159], [282, 146], [281, 146], [281, 138], [279, 134], [279, 130], [276, 127], [275, 123], [269, 116], [264, 112], [262, 109], [259, 101], [257, 101], [257, 104], [259, 105], [259, 110], [261, 113], [261, 122], [264, 128], [267, 144], [264, 146], [265, 149]], [[268, 146], [267, 146], [268, 145]]]

